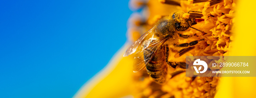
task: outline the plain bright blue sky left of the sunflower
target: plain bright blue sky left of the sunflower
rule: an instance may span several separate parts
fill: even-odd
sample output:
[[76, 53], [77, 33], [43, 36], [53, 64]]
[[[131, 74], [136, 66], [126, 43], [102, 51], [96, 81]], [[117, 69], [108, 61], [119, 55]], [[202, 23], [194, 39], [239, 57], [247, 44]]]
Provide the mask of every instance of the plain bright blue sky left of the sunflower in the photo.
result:
[[128, 0], [1, 0], [0, 97], [71, 98], [125, 43]]

